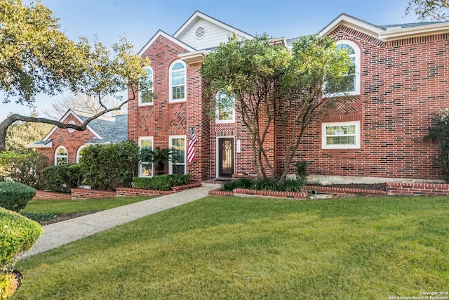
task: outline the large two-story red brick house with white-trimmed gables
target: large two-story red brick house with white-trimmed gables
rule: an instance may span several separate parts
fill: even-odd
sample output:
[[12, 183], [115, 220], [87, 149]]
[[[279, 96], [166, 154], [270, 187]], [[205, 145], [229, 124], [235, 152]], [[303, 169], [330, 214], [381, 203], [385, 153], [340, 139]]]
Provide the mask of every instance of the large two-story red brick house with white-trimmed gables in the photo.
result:
[[[141, 147], [179, 149], [184, 161], [169, 164], [170, 174], [192, 174], [194, 181], [256, 174], [239, 115], [232, 107], [208, 115], [199, 74], [208, 51], [234, 32], [253, 37], [196, 11], [175, 34], [159, 30], [139, 52], [151, 60], [147, 72], [156, 98], [128, 103], [128, 139]], [[342, 14], [319, 34], [351, 51], [357, 70], [351, 93], [358, 100], [316, 119], [307, 131], [295, 158], [309, 162], [311, 181], [438, 180], [440, 170], [432, 165], [437, 145], [423, 138], [431, 117], [449, 106], [449, 22], [377, 26]], [[294, 40], [273, 42], [290, 47]], [[186, 154], [190, 126], [197, 138], [192, 163]], [[284, 136], [273, 126], [267, 145], [279, 172]], [[143, 164], [140, 175], [152, 176], [151, 164]]]

